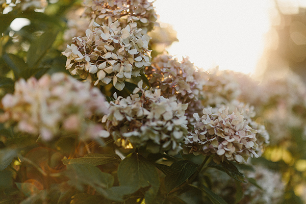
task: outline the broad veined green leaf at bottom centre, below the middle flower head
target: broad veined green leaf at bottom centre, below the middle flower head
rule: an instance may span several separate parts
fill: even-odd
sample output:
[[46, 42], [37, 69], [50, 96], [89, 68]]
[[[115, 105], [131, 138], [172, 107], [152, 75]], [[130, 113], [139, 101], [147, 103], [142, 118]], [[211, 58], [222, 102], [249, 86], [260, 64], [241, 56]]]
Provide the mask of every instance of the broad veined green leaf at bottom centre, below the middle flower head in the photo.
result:
[[146, 203], [151, 203], [155, 198], [160, 181], [154, 164], [134, 152], [119, 164], [118, 180], [121, 186], [130, 187], [137, 191], [140, 188], [149, 187], [145, 192]]

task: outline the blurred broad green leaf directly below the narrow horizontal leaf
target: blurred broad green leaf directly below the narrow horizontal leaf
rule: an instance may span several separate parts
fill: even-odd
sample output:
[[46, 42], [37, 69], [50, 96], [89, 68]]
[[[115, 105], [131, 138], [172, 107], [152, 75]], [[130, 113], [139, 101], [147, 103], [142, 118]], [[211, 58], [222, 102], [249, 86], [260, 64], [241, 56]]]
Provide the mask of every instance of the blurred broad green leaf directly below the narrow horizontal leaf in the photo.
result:
[[80, 191], [84, 190], [83, 185], [89, 185], [103, 195], [104, 189], [114, 184], [114, 177], [111, 174], [102, 172], [92, 164], [68, 164], [66, 176], [70, 179], [68, 184]]

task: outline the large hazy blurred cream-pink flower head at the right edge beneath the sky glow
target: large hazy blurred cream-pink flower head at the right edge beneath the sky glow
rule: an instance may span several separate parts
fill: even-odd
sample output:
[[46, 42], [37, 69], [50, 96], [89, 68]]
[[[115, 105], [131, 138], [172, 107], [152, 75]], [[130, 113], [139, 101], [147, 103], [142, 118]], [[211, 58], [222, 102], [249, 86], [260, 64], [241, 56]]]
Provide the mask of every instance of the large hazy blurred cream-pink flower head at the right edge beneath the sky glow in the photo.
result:
[[291, 138], [291, 130], [305, 126], [306, 87], [296, 74], [289, 73], [286, 78], [264, 81], [261, 89], [264, 101], [257, 112], [265, 118], [275, 145]]

